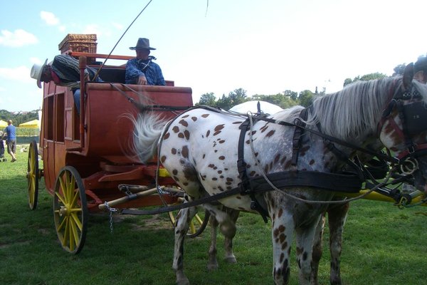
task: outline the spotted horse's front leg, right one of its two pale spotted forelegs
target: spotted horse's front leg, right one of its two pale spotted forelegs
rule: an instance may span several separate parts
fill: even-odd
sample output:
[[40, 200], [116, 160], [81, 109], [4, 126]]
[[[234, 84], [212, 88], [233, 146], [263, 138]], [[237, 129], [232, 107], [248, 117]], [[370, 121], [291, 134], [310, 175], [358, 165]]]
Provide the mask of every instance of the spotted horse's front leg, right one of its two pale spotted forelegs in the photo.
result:
[[313, 241], [320, 217], [321, 214], [311, 224], [296, 229], [295, 242], [300, 285], [311, 284]]

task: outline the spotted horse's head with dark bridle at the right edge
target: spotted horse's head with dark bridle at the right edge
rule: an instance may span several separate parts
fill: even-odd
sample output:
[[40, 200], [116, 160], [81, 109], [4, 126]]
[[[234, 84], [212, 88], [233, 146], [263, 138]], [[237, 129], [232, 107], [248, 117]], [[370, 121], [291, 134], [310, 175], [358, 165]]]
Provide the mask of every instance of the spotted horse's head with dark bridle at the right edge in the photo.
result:
[[413, 79], [412, 63], [396, 86], [379, 137], [399, 159], [401, 172], [412, 175], [414, 186], [427, 193], [427, 86]]

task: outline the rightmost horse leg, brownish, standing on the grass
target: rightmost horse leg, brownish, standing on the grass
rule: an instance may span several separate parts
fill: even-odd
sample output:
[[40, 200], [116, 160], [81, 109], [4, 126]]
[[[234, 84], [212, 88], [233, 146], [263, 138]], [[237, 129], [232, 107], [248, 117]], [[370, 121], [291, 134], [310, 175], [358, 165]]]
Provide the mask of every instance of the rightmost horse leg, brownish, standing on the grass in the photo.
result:
[[330, 228], [331, 272], [330, 283], [341, 285], [339, 259], [342, 252], [342, 233], [349, 212], [349, 203], [329, 207], [327, 219]]

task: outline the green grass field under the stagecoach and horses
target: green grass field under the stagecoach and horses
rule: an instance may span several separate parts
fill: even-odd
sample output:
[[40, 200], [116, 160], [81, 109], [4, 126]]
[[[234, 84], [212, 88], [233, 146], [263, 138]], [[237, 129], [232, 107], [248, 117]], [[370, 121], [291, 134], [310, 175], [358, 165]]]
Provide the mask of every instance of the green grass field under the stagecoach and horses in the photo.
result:
[[[19, 147], [20, 149], [21, 147]], [[174, 234], [167, 215], [91, 214], [85, 247], [78, 255], [63, 251], [53, 224], [53, 199], [40, 182], [38, 207], [26, 195], [28, 152], [18, 161], [0, 162], [0, 284], [174, 284]], [[344, 284], [426, 284], [426, 207], [400, 210], [388, 202], [352, 202], [344, 230]], [[191, 284], [273, 284], [270, 223], [241, 214], [234, 239], [237, 264], [226, 264], [218, 237], [219, 269], [206, 269], [209, 227], [186, 239], [184, 266]], [[327, 239], [328, 233], [325, 233]], [[329, 284], [329, 253], [320, 264], [320, 283]], [[290, 284], [297, 284], [292, 262]]]

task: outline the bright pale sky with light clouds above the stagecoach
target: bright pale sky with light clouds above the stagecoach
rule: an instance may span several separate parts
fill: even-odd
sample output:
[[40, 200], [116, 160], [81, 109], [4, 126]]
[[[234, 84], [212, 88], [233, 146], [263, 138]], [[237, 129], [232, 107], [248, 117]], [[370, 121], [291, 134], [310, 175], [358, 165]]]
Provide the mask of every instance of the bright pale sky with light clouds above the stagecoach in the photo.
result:
[[194, 103], [238, 88], [332, 93], [427, 53], [425, 0], [152, 0], [130, 26], [148, 3], [1, 1], [0, 110], [41, 108], [31, 66], [53, 60], [68, 33], [96, 33], [97, 53], [118, 42], [112, 54], [125, 56], [149, 38], [164, 78], [191, 87]]

